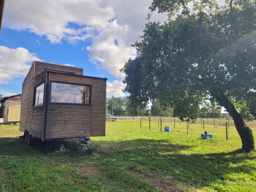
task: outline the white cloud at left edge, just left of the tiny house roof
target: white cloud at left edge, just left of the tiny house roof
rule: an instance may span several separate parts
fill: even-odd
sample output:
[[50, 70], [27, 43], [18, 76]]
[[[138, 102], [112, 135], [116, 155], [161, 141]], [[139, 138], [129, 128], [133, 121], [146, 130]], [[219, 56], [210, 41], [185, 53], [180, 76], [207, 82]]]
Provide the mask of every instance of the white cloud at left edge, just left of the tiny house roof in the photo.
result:
[[39, 60], [26, 48], [0, 46], [0, 84], [8, 84], [14, 78], [25, 76], [33, 60]]

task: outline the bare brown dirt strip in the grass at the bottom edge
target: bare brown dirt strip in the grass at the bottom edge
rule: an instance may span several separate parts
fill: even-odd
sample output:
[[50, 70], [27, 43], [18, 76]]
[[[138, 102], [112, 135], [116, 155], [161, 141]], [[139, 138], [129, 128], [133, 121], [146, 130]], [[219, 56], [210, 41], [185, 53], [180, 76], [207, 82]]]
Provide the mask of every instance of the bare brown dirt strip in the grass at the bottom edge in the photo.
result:
[[186, 192], [186, 190], [178, 189], [174, 186], [174, 183], [171, 183], [169, 179], [163, 179], [158, 176], [150, 176], [139, 173], [139, 171], [127, 170], [128, 174], [133, 174], [141, 179], [147, 180], [154, 184], [154, 186], [158, 186], [161, 190], [166, 192]]

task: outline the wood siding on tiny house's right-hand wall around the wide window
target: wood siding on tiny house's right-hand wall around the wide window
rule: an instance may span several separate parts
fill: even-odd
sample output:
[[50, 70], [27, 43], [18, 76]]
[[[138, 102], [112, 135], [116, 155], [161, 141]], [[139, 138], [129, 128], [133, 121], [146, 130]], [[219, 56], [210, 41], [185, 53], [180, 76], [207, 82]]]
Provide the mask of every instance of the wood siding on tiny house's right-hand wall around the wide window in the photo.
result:
[[49, 80], [91, 85], [92, 95], [91, 106], [50, 103], [46, 139], [78, 137], [84, 132], [91, 136], [105, 136], [106, 80], [60, 73], [50, 73]]

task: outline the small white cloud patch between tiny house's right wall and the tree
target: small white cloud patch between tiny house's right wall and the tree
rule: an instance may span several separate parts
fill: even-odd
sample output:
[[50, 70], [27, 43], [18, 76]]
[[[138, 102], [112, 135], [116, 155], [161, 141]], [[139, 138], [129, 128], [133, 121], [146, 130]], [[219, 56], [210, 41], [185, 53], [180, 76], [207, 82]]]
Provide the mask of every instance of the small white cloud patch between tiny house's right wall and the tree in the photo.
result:
[[125, 85], [122, 81], [114, 80], [113, 82], [107, 82], [107, 97], [122, 97], [125, 96], [122, 90]]

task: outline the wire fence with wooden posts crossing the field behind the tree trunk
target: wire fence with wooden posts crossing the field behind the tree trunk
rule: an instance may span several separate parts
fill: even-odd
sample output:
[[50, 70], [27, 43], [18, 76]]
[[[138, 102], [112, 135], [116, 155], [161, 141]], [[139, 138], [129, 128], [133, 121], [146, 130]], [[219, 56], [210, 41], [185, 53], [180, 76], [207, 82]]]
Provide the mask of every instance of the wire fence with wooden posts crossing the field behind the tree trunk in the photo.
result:
[[[181, 135], [197, 135], [198, 137], [218, 137], [225, 140], [237, 140], [238, 132], [233, 119], [225, 118], [198, 118], [195, 122], [184, 122], [178, 117], [117, 117], [117, 121], [134, 122], [142, 129], [154, 132], [176, 132]], [[256, 120], [245, 122], [248, 127], [256, 131]], [[235, 137], [234, 137], [235, 135]]]

